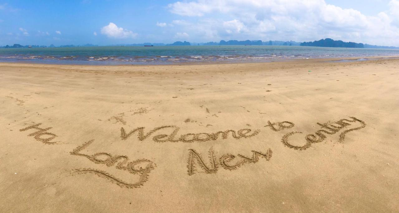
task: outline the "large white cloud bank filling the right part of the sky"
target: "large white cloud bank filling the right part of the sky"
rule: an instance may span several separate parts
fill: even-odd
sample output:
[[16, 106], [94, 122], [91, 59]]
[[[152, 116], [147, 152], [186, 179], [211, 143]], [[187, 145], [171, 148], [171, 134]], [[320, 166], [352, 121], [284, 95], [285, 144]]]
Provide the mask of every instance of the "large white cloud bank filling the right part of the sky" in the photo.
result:
[[[181, 25], [191, 37], [312, 41], [326, 37], [399, 45], [399, 0], [389, 10], [366, 16], [324, 0], [191, 0], [168, 5], [171, 13], [191, 17]], [[217, 16], [215, 15], [217, 14]], [[174, 25], [179, 25], [172, 21]]]

